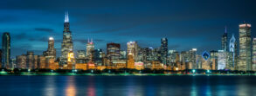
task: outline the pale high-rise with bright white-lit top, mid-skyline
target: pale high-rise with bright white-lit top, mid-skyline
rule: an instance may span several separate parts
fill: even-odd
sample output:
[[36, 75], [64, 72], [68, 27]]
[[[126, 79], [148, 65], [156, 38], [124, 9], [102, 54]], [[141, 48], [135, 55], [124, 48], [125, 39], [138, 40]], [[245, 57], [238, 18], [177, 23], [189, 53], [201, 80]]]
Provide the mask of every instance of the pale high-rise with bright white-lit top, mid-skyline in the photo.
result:
[[127, 54], [132, 54], [135, 61], [138, 61], [138, 44], [137, 42], [127, 42]]

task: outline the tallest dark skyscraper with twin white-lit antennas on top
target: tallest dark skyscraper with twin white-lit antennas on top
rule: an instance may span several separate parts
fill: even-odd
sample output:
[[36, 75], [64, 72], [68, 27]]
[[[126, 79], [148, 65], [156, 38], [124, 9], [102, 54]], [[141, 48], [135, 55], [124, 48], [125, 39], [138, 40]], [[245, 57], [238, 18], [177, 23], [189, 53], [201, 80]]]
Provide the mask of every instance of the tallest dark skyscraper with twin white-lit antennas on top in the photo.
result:
[[69, 30], [69, 18], [68, 12], [66, 12], [64, 30], [63, 30], [63, 41], [61, 43], [61, 57], [60, 64], [66, 64], [67, 55], [69, 52], [73, 52], [72, 34]]

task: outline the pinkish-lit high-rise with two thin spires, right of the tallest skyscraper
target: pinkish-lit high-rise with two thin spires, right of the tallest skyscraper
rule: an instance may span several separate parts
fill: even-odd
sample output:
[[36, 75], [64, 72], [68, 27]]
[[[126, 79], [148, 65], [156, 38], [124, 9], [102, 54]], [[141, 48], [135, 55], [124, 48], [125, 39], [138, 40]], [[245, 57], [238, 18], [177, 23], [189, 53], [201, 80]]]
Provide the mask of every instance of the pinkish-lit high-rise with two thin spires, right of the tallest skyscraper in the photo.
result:
[[93, 39], [91, 41], [88, 39], [88, 42], [86, 44], [86, 58], [89, 61], [93, 61], [93, 51], [94, 51]]

